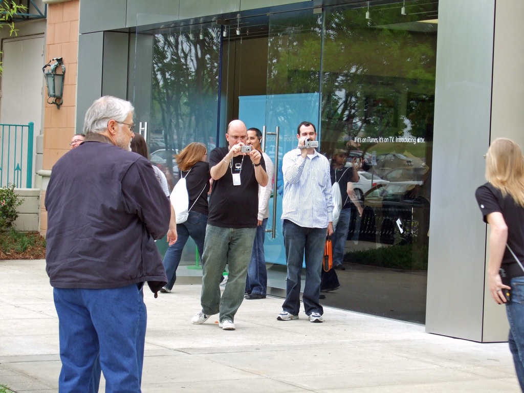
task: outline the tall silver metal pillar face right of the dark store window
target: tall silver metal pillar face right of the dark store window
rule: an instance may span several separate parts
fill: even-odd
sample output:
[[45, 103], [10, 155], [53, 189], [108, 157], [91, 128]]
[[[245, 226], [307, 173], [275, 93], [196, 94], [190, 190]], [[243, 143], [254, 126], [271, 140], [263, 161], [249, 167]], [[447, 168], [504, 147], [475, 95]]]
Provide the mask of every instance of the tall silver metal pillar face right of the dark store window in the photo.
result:
[[[439, 2], [426, 331], [474, 341], [488, 311], [474, 193], [485, 181], [494, 16], [495, 0]], [[505, 319], [503, 308], [489, 312]]]

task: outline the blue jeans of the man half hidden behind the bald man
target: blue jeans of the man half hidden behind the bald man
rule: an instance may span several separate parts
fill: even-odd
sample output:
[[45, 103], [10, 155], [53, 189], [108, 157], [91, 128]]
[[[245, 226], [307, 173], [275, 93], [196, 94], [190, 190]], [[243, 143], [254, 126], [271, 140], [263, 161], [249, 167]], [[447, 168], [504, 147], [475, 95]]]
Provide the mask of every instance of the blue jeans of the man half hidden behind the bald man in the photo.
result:
[[264, 256], [264, 240], [266, 239], [267, 219], [262, 220], [262, 225], [257, 226], [251, 260], [247, 268], [246, 292], [267, 293], [266, 257]]

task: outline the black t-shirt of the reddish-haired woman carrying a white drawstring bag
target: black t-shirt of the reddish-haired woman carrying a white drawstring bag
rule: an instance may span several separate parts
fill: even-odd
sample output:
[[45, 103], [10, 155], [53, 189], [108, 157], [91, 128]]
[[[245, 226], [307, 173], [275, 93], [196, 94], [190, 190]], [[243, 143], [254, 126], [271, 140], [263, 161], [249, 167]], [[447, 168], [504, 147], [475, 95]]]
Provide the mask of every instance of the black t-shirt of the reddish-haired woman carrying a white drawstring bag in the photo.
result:
[[[194, 206], [191, 208], [191, 211], [208, 215], [209, 179], [211, 179], [211, 175], [209, 174], [209, 163], [199, 161], [191, 167], [190, 171], [181, 172], [182, 176], [185, 178], [185, 185], [188, 189], [188, 207], [191, 208], [191, 206], [193, 206], [194, 203]], [[196, 200], [197, 198], [198, 200]]]

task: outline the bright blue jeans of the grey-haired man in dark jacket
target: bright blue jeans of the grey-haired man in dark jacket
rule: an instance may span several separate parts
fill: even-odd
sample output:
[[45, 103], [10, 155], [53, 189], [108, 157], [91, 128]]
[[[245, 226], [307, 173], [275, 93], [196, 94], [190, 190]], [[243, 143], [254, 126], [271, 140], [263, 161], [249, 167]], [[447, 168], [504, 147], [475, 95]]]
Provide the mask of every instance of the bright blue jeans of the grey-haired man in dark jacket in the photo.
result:
[[[62, 369], [59, 391], [140, 392], [147, 311], [136, 284], [112, 289], [54, 288]], [[100, 361], [100, 363], [99, 363]]]

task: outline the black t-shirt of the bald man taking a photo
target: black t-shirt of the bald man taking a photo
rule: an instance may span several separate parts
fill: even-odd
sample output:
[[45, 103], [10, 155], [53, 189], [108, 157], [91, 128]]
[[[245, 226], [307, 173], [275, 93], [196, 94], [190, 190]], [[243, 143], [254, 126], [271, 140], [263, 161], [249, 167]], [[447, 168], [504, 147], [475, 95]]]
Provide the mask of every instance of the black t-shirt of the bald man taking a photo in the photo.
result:
[[[217, 147], [209, 155], [213, 168], [224, 159], [227, 147]], [[244, 159], [242, 159], [244, 158]], [[264, 158], [260, 159], [266, 170]], [[240, 185], [233, 185], [233, 173], [240, 174]], [[224, 176], [213, 181], [208, 223], [224, 228], [256, 228], [258, 220], [258, 182], [249, 156], [234, 157]]]

